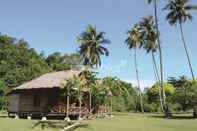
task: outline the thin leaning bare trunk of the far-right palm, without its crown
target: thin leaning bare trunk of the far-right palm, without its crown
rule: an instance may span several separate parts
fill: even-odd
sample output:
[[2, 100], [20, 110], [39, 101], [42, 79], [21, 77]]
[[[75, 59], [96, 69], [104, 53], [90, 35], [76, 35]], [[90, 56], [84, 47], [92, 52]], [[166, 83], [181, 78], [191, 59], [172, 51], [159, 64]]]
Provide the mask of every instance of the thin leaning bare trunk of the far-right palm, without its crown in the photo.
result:
[[182, 38], [183, 46], [184, 46], [185, 53], [186, 53], [186, 56], [187, 56], [187, 61], [188, 61], [188, 64], [189, 64], [190, 72], [191, 72], [191, 75], [192, 75], [192, 79], [194, 80], [195, 79], [194, 72], [193, 72], [193, 68], [192, 68], [192, 64], [191, 64], [191, 60], [190, 60], [187, 44], [185, 42], [185, 37], [184, 37], [183, 27], [182, 27], [182, 22], [181, 21], [179, 22], [179, 26], [180, 26], [180, 30], [181, 30], [181, 38]]

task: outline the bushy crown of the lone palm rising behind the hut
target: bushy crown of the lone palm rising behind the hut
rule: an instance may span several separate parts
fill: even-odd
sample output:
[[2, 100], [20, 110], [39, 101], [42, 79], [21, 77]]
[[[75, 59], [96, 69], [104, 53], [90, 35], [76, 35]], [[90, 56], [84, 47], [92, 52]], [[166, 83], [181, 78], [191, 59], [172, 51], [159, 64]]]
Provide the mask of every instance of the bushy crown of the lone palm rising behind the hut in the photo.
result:
[[101, 66], [101, 56], [108, 56], [105, 47], [110, 41], [105, 38], [105, 32], [97, 32], [96, 27], [89, 25], [77, 38], [80, 44], [78, 53], [84, 65], [90, 67]]

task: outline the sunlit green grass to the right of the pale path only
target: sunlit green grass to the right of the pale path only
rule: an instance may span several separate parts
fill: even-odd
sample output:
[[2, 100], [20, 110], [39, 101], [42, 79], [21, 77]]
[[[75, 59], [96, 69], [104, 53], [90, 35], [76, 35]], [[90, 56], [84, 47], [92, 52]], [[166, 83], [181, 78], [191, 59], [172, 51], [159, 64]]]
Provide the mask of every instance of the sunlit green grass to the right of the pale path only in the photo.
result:
[[197, 131], [197, 120], [187, 117], [163, 119], [151, 115], [127, 114], [87, 122], [87, 128], [76, 131]]

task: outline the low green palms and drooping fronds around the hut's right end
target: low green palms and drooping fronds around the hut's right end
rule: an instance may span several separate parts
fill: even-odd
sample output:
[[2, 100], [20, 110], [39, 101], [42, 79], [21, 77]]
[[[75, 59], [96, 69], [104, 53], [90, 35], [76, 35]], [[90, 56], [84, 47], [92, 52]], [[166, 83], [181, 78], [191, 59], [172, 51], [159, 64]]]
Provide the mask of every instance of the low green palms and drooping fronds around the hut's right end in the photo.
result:
[[[79, 100], [77, 92], [83, 91], [81, 99], [84, 104], [90, 104], [93, 111], [98, 106], [107, 106], [108, 108], [112, 106], [113, 111], [118, 112], [140, 110], [137, 108], [139, 104], [137, 88], [116, 77], [101, 79], [97, 78], [94, 72], [83, 71], [81, 75], [66, 80], [65, 83], [65, 94], [68, 94], [68, 89], [69, 94], [72, 94], [70, 101], [75, 100], [76, 103], [79, 103], [77, 102]], [[88, 95], [89, 93], [91, 96]]]

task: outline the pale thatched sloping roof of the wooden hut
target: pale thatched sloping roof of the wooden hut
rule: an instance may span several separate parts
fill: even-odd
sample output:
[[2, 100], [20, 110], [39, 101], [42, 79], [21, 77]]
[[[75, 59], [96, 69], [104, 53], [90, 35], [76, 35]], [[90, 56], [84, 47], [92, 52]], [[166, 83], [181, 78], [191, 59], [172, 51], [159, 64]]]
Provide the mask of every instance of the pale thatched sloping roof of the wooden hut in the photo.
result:
[[78, 75], [79, 70], [59, 71], [44, 74], [36, 79], [26, 82], [13, 90], [20, 89], [43, 89], [43, 88], [61, 88], [65, 79]]

